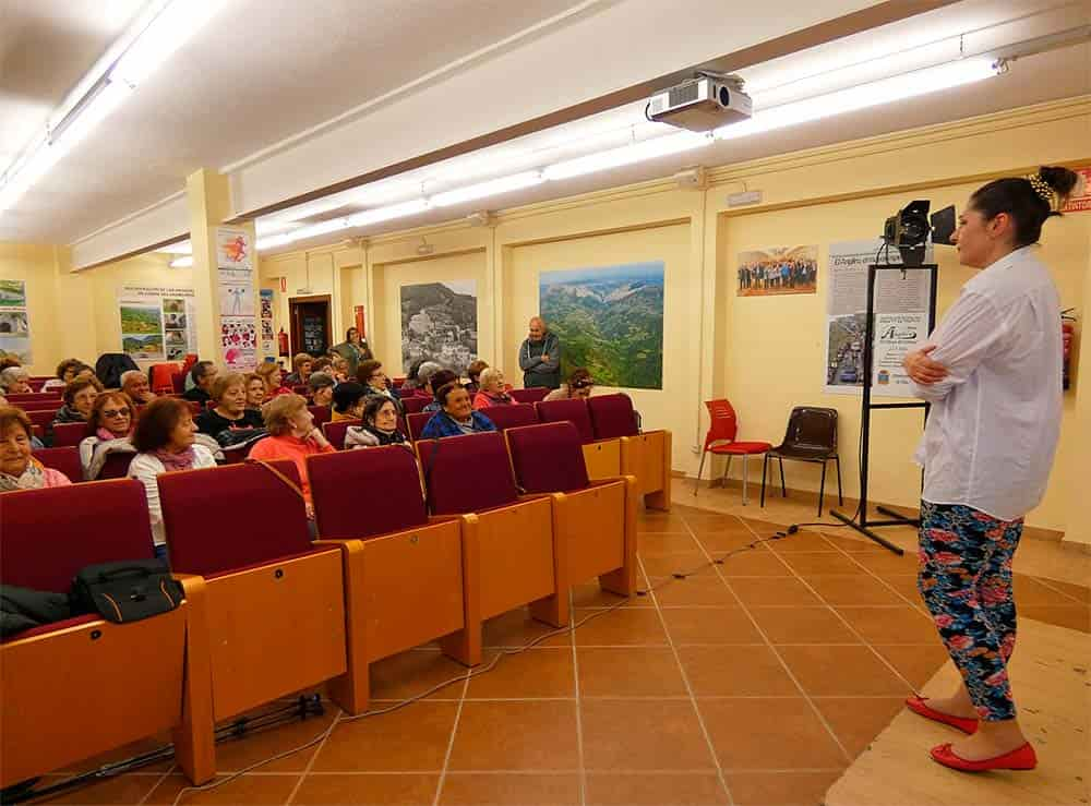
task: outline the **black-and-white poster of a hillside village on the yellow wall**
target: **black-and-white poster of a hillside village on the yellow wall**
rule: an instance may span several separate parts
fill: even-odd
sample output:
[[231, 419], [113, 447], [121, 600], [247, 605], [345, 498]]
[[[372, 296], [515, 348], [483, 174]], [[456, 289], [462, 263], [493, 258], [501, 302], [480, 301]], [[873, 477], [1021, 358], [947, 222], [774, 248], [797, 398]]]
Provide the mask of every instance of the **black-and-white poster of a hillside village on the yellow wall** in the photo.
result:
[[466, 375], [477, 360], [477, 280], [401, 286], [401, 369], [429, 359]]

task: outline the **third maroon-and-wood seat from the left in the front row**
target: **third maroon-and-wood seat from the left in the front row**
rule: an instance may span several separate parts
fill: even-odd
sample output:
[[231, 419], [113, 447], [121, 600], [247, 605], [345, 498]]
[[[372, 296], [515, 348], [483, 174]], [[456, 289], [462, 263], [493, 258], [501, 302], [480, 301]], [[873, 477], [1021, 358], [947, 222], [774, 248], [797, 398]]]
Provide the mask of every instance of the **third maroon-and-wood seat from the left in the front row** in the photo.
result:
[[363, 660], [373, 663], [441, 639], [467, 665], [481, 660], [481, 617], [468, 596], [476, 578], [461, 524], [430, 522], [413, 455], [400, 446], [308, 457], [319, 534], [363, 541]]

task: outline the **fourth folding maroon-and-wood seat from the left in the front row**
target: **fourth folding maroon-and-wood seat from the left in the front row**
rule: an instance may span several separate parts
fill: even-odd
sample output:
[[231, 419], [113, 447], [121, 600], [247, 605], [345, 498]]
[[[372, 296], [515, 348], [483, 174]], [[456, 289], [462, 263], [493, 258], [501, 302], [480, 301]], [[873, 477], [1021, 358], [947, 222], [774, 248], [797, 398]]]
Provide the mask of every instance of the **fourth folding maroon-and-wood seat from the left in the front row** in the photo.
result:
[[[477, 557], [481, 618], [530, 604], [536, 618], [567, 624], [567, 589], [559, 585], [552, 501], [520, 496], [503, 434], [485, 432], [417, 443], [434, 516], [461, 520], [467, 551]], [[472, 580], [468, 580], [473, 585]]]

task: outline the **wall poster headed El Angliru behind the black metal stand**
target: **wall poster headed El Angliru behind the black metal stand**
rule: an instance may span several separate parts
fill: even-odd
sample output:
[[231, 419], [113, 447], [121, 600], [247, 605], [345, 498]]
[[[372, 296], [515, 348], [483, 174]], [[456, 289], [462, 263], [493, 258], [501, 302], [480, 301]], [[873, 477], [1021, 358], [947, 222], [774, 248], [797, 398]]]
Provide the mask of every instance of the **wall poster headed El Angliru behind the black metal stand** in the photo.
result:
[[[932, 262], [932, 244], [925, 263]], [[832, 394], [853, 394], [864, 383], [864, 335], [867, 310], [867, 267], [882, 262], [901, 265], [898, 250], [883, 250], [878, 238], [829, 245], [826, 288], [826, 350], [824, 387]], [[872, 394], [912, 397], [901, 361], [928, 333], [931, 275], [924, 269], [880, 272], [875, 280], [875, 349]]]

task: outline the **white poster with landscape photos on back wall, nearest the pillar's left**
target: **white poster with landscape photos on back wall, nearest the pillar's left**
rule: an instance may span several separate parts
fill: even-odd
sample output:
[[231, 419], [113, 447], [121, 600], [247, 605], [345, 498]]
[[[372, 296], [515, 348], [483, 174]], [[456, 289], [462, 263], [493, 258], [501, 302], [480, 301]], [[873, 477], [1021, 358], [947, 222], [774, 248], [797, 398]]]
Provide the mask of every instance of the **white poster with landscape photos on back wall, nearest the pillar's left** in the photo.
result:
[[184, 361], [197, 351], [192, 288], [124, 286], [118, 313], [121, 350], [137, 363]]

